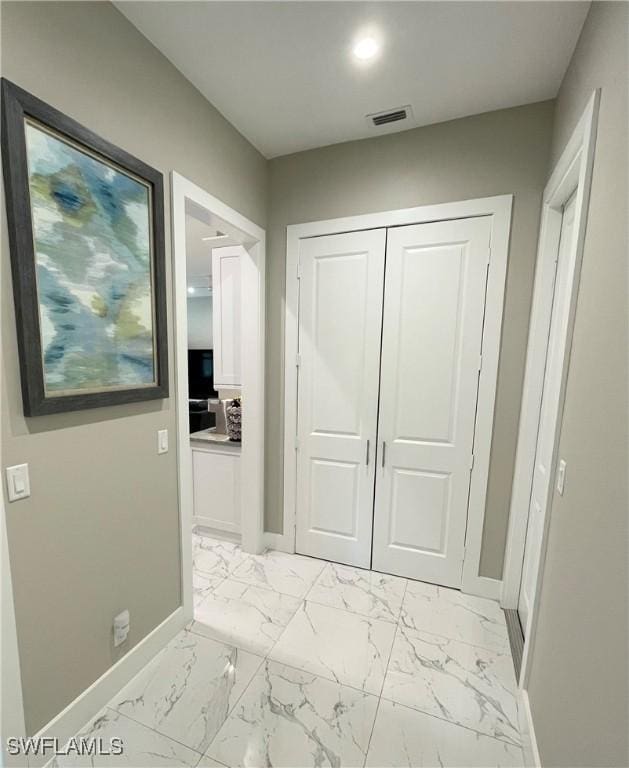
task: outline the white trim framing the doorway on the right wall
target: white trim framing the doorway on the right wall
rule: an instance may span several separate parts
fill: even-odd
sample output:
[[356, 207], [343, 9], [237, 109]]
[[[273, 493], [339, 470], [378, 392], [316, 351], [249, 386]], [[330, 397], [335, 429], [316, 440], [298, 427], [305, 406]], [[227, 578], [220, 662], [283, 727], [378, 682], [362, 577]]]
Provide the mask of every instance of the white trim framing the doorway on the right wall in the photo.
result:
[[559, 397], [553, 459], [550, 467], [550, 477], [553, 478], [553, 481], [550, 483], [549, 497], [546, 504], [535, 598], [525, 633], [524, 657], [522, 673], [520, 676], [520, 686], [523, 688], [526, 688], [528, 680], [530, 658], [533, 648], [535, 628], [537, 626], [539, 593], [542, 583], [548, 535], [548, 511], [551, 506], [552, 494], [555, 488], [554, 477], [557, 462], [557, 449], [561, 431], [561, 416], [565, 400], [566, 379], [572, 346], [572, 333], [574, 329], [576, 302], [579, 290], [581, 262], [583, 259], [583, 245], [585, 241], [592, 168], [594, 164], [599, 101], [600, 91], [597, 90], [594, 91], [590, 97], [570, 140], [557, 161], [546, 188], [544, 189], [543, 196], [538, 261], [535, 274], [526, 373], [524, 377], [524, 391], [520, 412], [520, 430], [518, 435], [509, 531], [503, 574], [504, 584], [502, 604], [505, 608], [516, 608], [518, 604], [524, 547], [526, 543], [526, 528], [533, 466], [535, 462], [535, 447], [537, 443], [537, 431], [544, 382], [544, 367], [548, 349], [548, 335], [553, 305], [554, 262], [559, 252], [562, 208], [574, 194], [575, 190], [577, 191], [574, 239], [572, 249], [568, 256], [571, 260], [570, 269], [572, 272], [572, 275], [568, 280], [569, 295], [567, 297], [570, 309], [565, 345], [562, 353], [563, 372], [561, 393]]

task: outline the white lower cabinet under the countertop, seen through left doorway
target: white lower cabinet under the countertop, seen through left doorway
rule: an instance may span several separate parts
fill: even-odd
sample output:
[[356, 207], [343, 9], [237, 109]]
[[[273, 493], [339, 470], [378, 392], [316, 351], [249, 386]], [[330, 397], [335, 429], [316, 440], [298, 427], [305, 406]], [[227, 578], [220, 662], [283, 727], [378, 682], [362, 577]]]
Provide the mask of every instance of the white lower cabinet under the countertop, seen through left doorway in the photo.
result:
[[195, 523], [240, 533], [240, 446], [192, 446]]

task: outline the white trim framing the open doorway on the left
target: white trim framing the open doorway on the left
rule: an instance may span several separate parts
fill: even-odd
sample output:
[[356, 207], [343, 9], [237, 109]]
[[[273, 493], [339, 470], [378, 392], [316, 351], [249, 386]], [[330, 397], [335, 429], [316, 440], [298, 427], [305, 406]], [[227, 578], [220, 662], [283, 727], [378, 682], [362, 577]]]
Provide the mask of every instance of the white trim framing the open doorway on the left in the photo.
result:
[[177, 397], [177, 470], [181, 539], [182, 602], [186, 619], [192, 619], [192, 452], [188, 424], [188, 317], [186, 284], [186, 200], [211, 211], [250, 238], [249, 258], [242, 262], [242, 397], [241, 448], [242, 547], [263, 549], [264, 525], [264, 313], [265, 231], [238, 211], [225, 205], [179, 173], [172, 171], [173, 277], [175, 305], [175, 367]]

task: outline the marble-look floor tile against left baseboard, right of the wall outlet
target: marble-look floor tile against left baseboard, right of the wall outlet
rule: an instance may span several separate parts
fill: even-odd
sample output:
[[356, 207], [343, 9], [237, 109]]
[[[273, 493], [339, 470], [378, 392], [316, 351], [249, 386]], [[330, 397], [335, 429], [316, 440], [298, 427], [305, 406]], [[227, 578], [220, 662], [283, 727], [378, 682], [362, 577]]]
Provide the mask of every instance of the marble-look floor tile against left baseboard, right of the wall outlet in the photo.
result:
[[259, 656], [183, 631], [109, 706], [203, 752], [261, 662]]

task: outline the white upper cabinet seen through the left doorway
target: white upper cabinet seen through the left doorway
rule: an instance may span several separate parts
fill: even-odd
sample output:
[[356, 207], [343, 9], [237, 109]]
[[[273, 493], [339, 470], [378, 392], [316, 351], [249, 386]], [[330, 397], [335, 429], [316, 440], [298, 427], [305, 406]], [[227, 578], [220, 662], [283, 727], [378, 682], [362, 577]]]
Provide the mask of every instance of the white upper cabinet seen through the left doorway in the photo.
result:
[[241, 380], [240, 245], [212, 249], [214, 389], [239, 387]]

